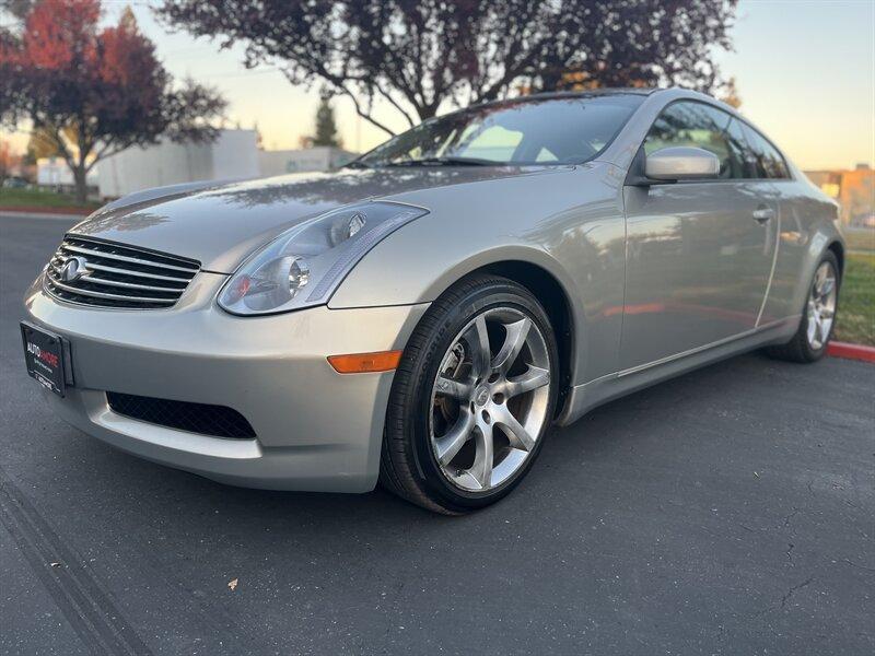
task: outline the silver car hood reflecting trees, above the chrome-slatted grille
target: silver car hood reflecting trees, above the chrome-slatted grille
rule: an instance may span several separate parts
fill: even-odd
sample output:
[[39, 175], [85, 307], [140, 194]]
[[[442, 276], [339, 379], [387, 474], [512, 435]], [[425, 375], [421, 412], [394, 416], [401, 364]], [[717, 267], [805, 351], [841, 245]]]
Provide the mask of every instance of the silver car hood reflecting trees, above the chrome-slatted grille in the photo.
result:
[[[502, 177], [544, 167], [348, 169], [243, 183], [199, 183], [125, 197], [70, 232], [194, 258], [206, 271], [231, 273], [283, 230], [334, 208], [410, 191]], [[416, 201], [416, 196], [412, 197]]]

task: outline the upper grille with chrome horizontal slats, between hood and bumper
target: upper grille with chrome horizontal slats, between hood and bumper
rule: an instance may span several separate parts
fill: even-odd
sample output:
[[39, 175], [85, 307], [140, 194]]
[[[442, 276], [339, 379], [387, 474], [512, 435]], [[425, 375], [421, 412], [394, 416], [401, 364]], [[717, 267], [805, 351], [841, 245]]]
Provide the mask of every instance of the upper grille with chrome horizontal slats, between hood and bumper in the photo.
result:
[[[65, 266], [78, 261], [80, 276], [65, 280]], [[54, 296], [96, 307], [172, 307], [200, 269], [195, 260], [67, 235], [48, 263], [46, 290]], [[69, 271], [68, 271], [69, 272]]]

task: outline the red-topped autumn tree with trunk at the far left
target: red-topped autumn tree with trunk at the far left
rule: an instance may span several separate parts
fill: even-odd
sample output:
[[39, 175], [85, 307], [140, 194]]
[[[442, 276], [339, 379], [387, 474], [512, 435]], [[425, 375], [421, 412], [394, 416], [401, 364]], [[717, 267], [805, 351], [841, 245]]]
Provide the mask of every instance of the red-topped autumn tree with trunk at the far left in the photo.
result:
[[100, 0], [42, 0], [0, 33], [0, 118], [30, 124], [63, 157], [81, 203], [102, 159], [162, 137], [212, 140], [225, 106], [191, 81], [175, 89], [130, 11], [116, 26], [100, 17]]

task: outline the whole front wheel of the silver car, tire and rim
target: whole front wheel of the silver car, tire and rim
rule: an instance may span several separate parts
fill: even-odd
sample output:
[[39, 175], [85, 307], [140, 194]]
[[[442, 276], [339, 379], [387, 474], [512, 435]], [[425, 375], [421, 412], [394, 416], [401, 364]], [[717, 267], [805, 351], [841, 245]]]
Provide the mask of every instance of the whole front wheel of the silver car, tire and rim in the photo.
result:
[[508, 494], [532, 467], [557, 397], [557, 347], [533, 294], [465, 280], [417, 326], [395, 374], [381, 482], [445, 514]]

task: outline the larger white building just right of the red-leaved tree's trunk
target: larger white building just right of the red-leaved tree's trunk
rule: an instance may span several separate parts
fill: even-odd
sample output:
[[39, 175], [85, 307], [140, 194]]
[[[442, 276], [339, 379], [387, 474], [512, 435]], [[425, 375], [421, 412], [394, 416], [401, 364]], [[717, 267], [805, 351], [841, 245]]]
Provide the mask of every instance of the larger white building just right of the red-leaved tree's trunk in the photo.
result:
[[97, 168], [104, 198], [178, 183], [254, 178], [259, 176], [256, 133], [222, 130], [212, 143], [162, 141], [129, 148], [103, 160]]

